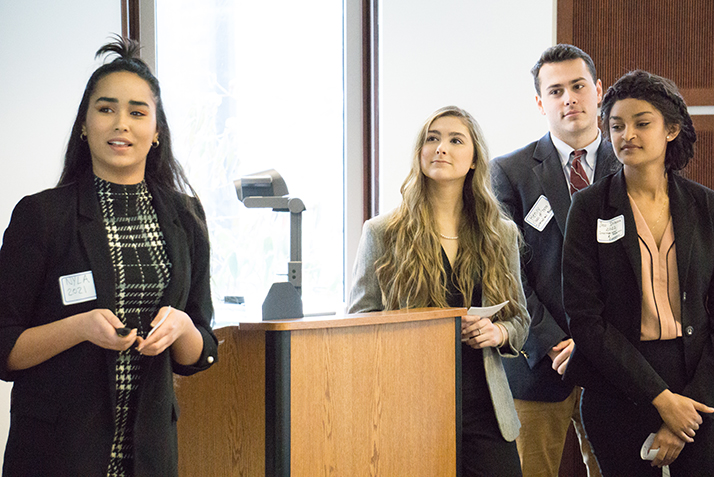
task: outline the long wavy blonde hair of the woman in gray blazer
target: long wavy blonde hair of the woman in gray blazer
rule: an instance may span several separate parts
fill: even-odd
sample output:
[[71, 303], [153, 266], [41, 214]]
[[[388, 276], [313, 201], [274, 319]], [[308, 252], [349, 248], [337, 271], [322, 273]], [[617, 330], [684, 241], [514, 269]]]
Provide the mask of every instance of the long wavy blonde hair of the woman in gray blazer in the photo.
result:
[[480, 277], [484, 296], [493, 303], [509, 300], [499, 316], [523, 315], [526, 310], [518, 300], [520, 277], [514, 276], [508, 266], [512, 245], [506, 240], [517, 229], [509, 230], [512, 224], [491, 189], [488, 152], [480, 126], [468, 112], [455, 106], [432, 114], [417, 136], [412, 167], [401, 187], [402, 203], [385, 230], [386, 253], [376, 263], [382, 301], [389, 310], [448, 306], [441, 243], [420, 160], [429, 128], [445, 116], [459, 118], [474, 145], [474, 168], [469, 169], [464, 181], [459, 248], [452, 266], [454, 284], [463, 294], [464, 306], [469, 307]]

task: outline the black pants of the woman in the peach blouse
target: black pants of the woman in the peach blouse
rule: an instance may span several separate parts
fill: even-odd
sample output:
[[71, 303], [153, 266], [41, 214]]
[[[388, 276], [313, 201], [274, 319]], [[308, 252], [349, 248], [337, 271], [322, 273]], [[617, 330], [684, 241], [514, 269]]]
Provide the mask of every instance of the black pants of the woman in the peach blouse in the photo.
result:
[[[681, 338], [643, 342], [641, 351], [669, 389], [681, 393], [686, 385]], [[580, 409], [585, 432], [604, 477], [662, 476], [661, 469], [640, 458], [642, 444], [662, 425], [652, 404], [637, 406], [620, 394], [585, 389]], [[672, 477], [714, 475], [714, 420], [706, 414], [703, 420], [694, 442], [685, 444], [679, 457], [669, 466]]]

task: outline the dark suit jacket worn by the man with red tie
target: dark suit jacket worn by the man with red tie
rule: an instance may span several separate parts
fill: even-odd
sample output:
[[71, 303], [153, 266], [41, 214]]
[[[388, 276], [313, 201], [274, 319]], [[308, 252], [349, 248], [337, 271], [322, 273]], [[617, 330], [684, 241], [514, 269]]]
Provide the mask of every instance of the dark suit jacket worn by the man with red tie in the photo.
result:
[[[609, 142], [597, 151], [595, 180], [617, 170], [619, 162]], [[561, 248], [570, 192], [558, 151], [550, 133], [491, 162], [496, 196], [521, 229], [523, 288], [531, 326], [518, 359], [504, 361], [513, 397], [526, 401], [562, 401], [573, 386], [553, 370], [548, 351], [569, 336], [561, 294]], [[525, 222], [540, 196], [545, 196], [553, 218], [542, 232]]]

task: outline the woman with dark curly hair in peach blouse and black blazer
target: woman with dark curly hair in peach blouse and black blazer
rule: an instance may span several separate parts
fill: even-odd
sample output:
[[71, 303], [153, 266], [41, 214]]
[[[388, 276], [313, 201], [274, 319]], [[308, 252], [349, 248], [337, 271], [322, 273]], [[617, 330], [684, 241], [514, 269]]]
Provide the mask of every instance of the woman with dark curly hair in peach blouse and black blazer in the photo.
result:
[[563, 301], [576, 347], [565, 379], [585, 389], [603, 475], [659, 476], [664, 465], [710, 475], [714, 192], [678, 174], [696, 133], [670, 80], [624, 75], [601, 117], [623, 168], [570, 207]]

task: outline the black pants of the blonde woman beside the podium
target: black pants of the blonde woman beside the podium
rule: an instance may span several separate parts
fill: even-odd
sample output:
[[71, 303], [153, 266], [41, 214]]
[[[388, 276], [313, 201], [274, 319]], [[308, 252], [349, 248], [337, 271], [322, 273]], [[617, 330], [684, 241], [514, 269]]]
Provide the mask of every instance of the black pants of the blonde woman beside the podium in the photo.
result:
[[464, 477], [519, 477], [516, 443], [501, 435], [483, 368], [483, 351], [462, 345], [462, 441]]

